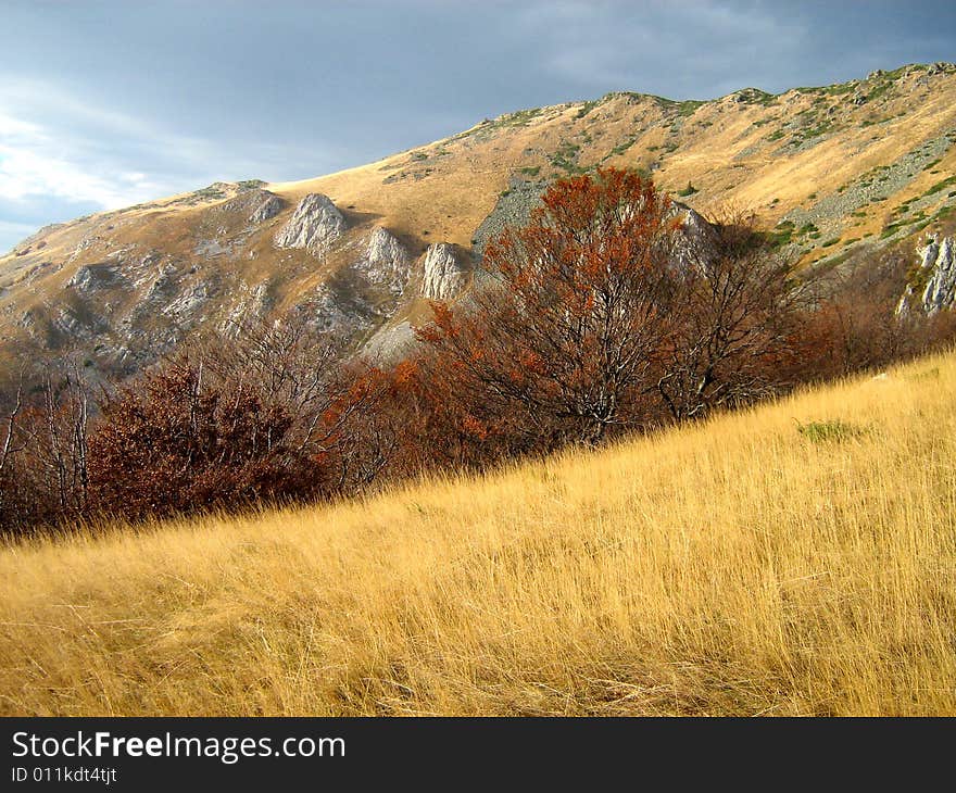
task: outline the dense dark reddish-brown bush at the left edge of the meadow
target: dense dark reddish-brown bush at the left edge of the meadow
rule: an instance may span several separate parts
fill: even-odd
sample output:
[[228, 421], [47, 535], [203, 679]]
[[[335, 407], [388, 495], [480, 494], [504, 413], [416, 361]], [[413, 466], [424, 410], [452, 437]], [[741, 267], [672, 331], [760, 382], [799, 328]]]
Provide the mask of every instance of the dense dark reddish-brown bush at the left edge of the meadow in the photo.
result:
[[307, 461], [288, 445], [288, 413], [241, 381], [203, 375], [177, 363], [105, 401], [89, 438], [95, 512], [163, 516], [311, 489]]

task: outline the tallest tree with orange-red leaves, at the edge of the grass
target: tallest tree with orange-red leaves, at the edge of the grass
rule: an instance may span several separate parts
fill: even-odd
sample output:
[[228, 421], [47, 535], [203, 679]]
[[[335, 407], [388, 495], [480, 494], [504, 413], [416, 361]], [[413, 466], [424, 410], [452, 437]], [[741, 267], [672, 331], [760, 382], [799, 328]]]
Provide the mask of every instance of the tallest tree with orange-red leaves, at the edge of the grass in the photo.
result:
[[634, 408], [672, 328], [679, 229], [650, 180], [608, 168], [555, 182], [490, 243], [493, 285], [467, 309], [433, 303], [420, 331], [480, 405], [473, 431], [510, 415], [519, 433], [596, 443], [645, 420]]

